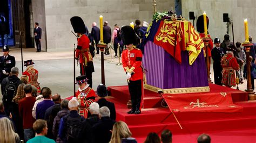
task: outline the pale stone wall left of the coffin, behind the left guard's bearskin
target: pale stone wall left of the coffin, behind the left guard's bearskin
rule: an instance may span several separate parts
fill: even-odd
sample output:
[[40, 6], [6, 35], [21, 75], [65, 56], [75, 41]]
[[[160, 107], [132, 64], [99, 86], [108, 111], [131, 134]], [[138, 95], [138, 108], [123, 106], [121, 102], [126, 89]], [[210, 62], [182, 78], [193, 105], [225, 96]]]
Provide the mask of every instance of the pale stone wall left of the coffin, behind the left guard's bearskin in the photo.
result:
[[[39, 2], [39, 0], [37, 0]], [[44, 0], [47, 31], [47, 51], [72, 50], [77, 44], [71, 33], [70, 18], [80, 16], [91, 32], [92, 22], [99, 26], [99, 16], [113, 25], [130, 25], [136, 19], [150, 23], [153, 15], [152, 0]], [[42, 7], [42, 6], [40, 6]], [[174, 8], [174, 0], [157, 0], [157, 11]], [[36, 20], [36, 19], [35, 19]]]

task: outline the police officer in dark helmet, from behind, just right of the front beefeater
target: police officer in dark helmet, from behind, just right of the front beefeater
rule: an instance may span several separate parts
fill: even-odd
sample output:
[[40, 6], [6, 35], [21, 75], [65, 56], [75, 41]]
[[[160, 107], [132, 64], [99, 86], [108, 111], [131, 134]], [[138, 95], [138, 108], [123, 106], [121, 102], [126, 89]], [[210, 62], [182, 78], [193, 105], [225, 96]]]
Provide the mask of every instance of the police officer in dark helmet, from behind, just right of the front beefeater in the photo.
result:
[[106, 106], [110, 110], [110, 118], [112, 120], [116, 120], [116, 108], [114, 107], [114, 103], [109, 102], [106, 100], [107, 96], [107, 88], [103, 84], [99, 84], [97, 87], [97, 95], [98, 95], [98, 101], [99, 108]]

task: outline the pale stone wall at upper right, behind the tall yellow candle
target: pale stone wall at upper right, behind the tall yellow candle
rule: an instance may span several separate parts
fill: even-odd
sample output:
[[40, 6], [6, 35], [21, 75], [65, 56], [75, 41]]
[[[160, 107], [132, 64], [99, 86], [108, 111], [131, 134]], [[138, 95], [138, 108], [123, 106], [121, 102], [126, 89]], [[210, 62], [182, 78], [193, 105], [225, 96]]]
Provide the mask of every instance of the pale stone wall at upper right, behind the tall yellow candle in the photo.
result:
[[[196, 20], [198, 16], [203, 15], [203, 12], [206, 11], [207, 17], [210, 19], [208, 31], [211, 37], [212, 39], [219, 37], [221, 41], [224, 40], [227, 31], [227, 23], [223, 22], [223, 13], [228, 13], [230, 20], [233, 20], [235, 42], [245, 41], [244, 19], [247, 18], [249, 35], [252, 35], [253, 41], [256, 42], [255, 0], [182, 0], [184, 18], [189, 18], [189, 11], [194, 11]], [[190, 22], [193, 23], [193, 20], [190, 20]], [[230, 40], [233, 41], [231, 24], [228, 33], [230, 34]]]

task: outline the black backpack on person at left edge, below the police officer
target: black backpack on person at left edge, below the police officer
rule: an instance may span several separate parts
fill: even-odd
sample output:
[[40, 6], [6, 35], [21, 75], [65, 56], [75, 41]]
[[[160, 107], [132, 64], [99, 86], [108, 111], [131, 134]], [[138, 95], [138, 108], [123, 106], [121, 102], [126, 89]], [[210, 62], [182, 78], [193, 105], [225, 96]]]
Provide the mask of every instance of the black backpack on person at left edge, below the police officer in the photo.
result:
[[4, 103], [11, 103], [12, 99], [16, 95], [16, 86], [15, 83], [9, 81], [9, 78], [6, 78], [7, 84], [5, 85], [4, 95], [3, 95], [3, 102]]

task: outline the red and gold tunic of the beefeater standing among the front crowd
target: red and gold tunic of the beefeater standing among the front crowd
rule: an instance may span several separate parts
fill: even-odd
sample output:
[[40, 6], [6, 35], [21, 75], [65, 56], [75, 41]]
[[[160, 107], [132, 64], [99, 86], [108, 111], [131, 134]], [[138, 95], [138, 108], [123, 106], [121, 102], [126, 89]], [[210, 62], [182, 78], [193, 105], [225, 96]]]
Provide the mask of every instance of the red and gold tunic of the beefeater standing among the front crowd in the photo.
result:
[[89, 106], [95, 101], [97, 95], [95, 91], [90, 87], [84, 89], [82, 92], [79, 90], [76, 92], [77, 101], [79, 103], [78, 114], [87, 118], [87, 113], [89, 112]]

